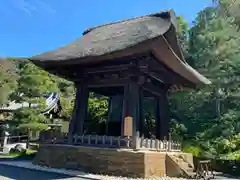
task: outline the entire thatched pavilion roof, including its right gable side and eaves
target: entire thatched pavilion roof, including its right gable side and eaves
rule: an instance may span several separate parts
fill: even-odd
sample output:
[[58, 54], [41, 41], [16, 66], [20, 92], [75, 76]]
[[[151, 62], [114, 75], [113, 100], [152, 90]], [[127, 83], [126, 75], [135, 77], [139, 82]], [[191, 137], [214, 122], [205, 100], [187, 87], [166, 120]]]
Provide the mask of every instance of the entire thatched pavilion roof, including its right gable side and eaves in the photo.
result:
[[60, 64], [114, 60], [149, 51], [159, 61], [193, 83], [210, 83], [186, 64], [176, 37], [176, 17], [173, 11], [90, 28], [74, 42], [33, 56], [30, 60], [46, 68]]

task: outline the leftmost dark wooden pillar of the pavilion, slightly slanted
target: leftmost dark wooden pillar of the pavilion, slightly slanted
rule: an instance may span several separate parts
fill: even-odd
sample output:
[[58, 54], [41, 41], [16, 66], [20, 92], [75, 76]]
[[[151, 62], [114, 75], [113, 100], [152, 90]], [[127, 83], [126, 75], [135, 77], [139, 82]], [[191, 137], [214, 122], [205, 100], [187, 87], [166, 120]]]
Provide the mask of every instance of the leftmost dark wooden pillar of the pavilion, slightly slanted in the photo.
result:
[[72, 119], [69, 124], [68, 142], [72, 143], [73, 135], [83, 134], [83, 125], [87, 117], [88, 110], [88, 87], [86, 85], [77, 84], [77, 92], [75, 98], [75, 104], [72, 114]]

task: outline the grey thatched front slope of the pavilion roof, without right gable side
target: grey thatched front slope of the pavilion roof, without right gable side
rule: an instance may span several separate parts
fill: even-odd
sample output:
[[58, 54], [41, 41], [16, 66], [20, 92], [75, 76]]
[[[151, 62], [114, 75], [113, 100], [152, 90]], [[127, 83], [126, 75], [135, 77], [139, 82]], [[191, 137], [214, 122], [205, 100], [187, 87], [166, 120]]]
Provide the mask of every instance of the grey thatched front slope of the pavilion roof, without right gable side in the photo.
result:
[[119, 51], [164, 34], [175, 20], [170, 12], [156, 13], [121, 22], [105, 24], [84, 31], [74, 42], [31, 59], [64, 61], [88, 56], [100, 56]]

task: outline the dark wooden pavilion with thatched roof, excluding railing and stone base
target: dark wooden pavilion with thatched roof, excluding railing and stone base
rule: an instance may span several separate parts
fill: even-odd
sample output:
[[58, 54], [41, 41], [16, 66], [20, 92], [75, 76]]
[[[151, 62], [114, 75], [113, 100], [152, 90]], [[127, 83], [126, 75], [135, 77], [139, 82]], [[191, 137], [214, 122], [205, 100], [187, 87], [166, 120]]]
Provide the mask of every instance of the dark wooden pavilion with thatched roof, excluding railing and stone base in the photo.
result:
[[[108, 129], [119, 126], [115, 136], [126, 135], [126, 117], [132, 119], [130, 135], [141, 135], [143, 98], [154, 97], [156, 137], [168, 136], [168, 92], [210, 84], [184, 60], [176, 23], [173, 11], [110, 23], [86, 30], [67, 46], [30, 58], [37, 66], [76, 84], [70, 143], [73, 135], [83, 134], [90, 91], [110, 97], [109, 117], [114, 114], [120, 119], [108, 123]], [[114, 108], [118, 109], [115, 113]]]

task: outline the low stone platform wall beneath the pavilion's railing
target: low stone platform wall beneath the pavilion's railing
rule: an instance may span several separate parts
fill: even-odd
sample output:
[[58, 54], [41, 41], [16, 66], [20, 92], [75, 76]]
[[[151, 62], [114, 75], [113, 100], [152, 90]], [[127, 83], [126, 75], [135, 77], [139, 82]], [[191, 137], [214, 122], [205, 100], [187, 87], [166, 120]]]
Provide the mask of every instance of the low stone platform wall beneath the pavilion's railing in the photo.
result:
[[166, 174], [165, 156], [160, 152], [45, 144], [40, 145], [33, 163], [97, 174], [147, 178]]

